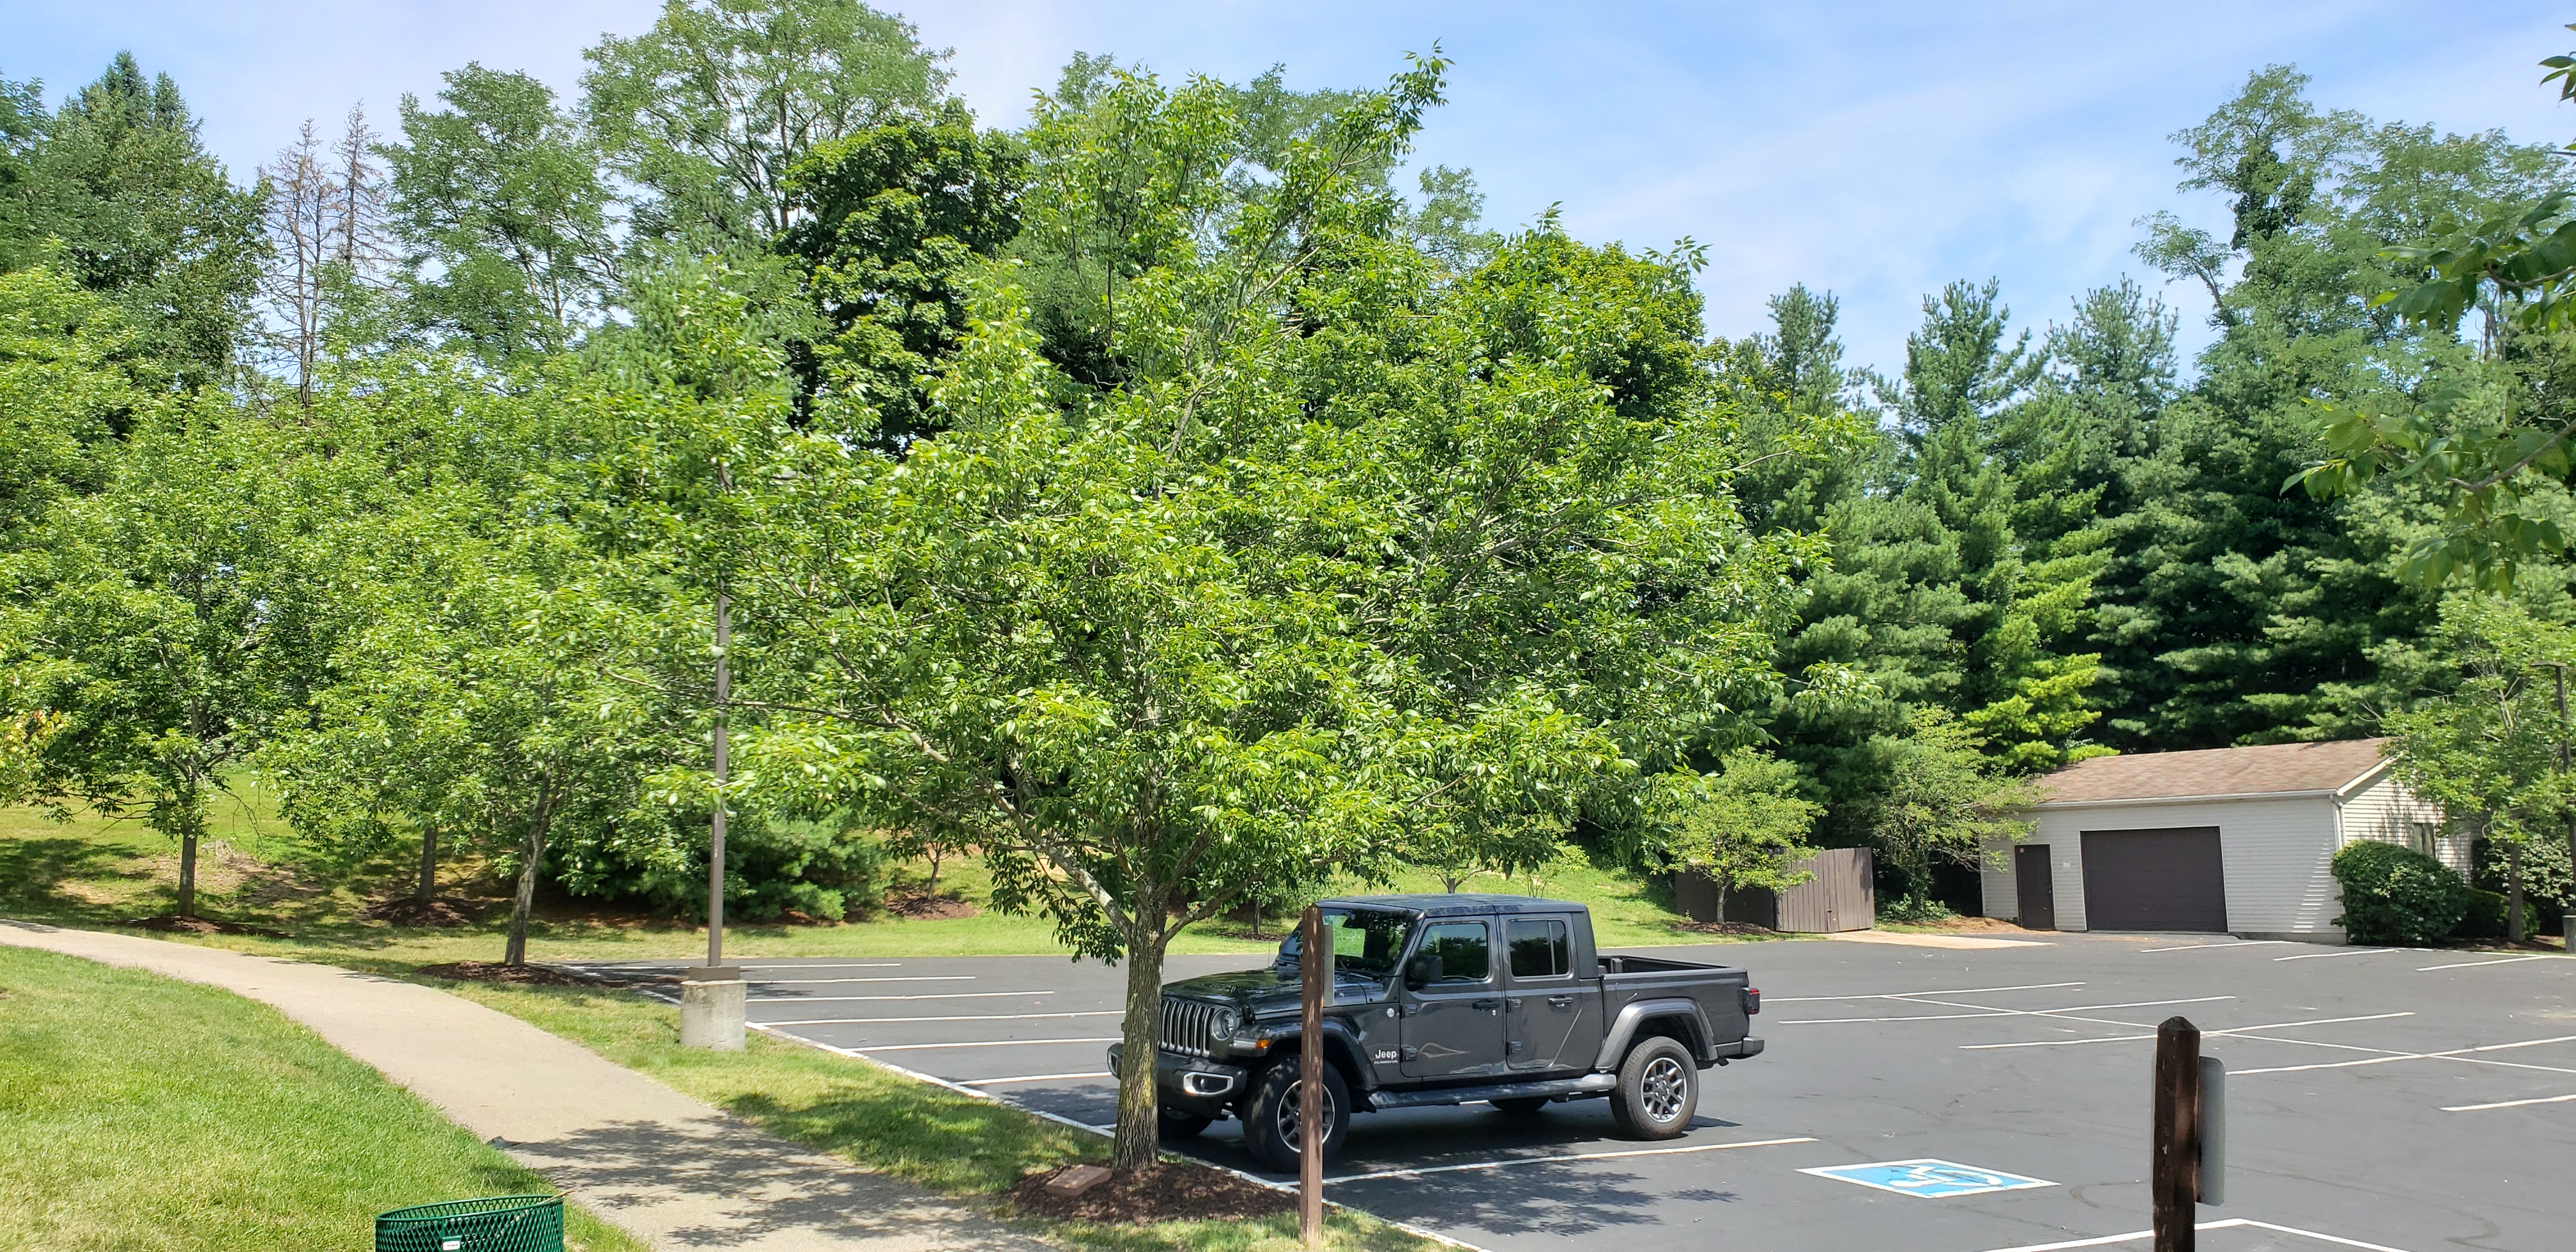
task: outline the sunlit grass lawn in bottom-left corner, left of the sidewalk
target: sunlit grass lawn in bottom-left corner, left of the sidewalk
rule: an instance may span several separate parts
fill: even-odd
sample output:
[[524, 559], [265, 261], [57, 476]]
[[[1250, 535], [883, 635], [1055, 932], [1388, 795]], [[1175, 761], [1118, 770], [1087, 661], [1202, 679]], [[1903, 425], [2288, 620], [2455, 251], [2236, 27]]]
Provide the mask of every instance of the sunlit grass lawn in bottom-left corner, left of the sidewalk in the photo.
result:
[[[374, 1216], [551, 1193], [286, 1015], [0, 948], [0, 1247], [371, 1247]], [[567, 1206], [574, 1249], [641, 1252]]]

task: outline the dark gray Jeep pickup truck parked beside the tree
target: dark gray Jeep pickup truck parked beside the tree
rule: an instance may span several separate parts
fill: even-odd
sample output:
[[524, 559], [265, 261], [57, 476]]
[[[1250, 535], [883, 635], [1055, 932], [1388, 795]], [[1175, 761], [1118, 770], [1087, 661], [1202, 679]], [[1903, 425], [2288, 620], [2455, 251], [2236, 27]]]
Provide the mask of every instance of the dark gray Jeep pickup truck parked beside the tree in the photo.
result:
[[[1327, 1157], [1350, 1136], [1352, 1110], [1468, 1100], [1535, 1113], [1600, 1095], [1625, 1133], [1672, 1139], [1700, 1103], [1700, 1069], [1762, 1054], [1749, 1038], [1762, 992], [1741, 969], [1597, 956], [1582, 904], [1422, 894], [1319, 907], [1334, 974]], [[1162, 1133], [1242, 1118], [1262, 1164], [1296, 1170], [1298, 997], [1296, 935], [1270, 969], [1167, 984], [1154, 1059]]]

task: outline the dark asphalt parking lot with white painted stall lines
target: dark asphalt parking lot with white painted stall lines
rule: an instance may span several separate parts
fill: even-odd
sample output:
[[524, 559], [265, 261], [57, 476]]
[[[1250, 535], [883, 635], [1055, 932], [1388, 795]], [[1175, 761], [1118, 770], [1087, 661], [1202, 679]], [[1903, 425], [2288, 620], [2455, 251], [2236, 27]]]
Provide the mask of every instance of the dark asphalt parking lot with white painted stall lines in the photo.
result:
[[[1363, 1113], [1329, 1195], [1497, 1252], [2146, 1247], [2151, 1030], [2182, 1012], [2231, 1072], [2228, 1203], [2202, 1208], [2226, 1226], [2202, 1247], [2540, 1252], [2576, 1229], [2576, 961], [2563, 956], [2226, 935], [1656, 953], [1744, 963], [1765, 992], [1754, 1033], [1770, 1051], [1703, 1074], [1687, 1136], [1618, 1139], [1605, 1100], [1533, 1118]], [[762, 1030], [1084, 1126], [1115, 1115], [1103, 1051], [1121, 987], [1097, 961], [744, 963]], [[1180, 956], [1167, 976], [1260, 963]], [[1257, 1170], [1234, 1123], [1175, 1146]], [[1968, 1172], [1875, 1175], [1899, 1190], [1816, 1172], [1880, 1162]], [[1917, 1185], [1978, 1172], [2014, 1177], [1942, 1198]]]

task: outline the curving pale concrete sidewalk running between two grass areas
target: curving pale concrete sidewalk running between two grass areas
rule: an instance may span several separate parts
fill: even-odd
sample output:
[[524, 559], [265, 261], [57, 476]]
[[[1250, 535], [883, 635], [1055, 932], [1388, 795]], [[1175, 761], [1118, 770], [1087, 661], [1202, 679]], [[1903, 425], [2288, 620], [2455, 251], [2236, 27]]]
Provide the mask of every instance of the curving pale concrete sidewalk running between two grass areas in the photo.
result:
[[760, 1133], [580, 1043], [446, 992], [304, 961], [28, 922], [0, 922], [0, 943], [149, 969], [276, 1005], [662, 1249], [1046, 1247], [909, 1182]]

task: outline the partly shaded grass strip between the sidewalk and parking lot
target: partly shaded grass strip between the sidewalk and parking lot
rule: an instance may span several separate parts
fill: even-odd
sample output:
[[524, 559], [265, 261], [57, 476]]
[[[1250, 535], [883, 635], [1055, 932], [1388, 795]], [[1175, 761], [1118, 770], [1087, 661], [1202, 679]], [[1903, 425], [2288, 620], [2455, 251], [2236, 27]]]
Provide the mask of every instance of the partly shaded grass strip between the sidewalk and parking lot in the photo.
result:
[[[626, 992], [417, 982], [572, 1038], [770, 1133], [943, 1195], [992, 1200], [1033, 1170], [1108, 1162], [1108, 1139], [1033, 1118], [1002, 1103], [930, 1087], [866, 1061], [757, 1033], [744, 1051], [734, 1054], [680, 1048], [680, 1010]], [[1033, 1234], [1087, 1252], [1288, 1252], [1296, 1247], [1293, 1216], [1154, 1226], [1023, 1221]], [[1437, 1247], [1360, 1213], [1334, 1211], [1327, 1226], [1337, 1249], [1432, 1252]]]

